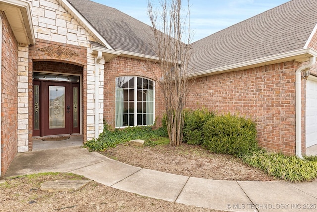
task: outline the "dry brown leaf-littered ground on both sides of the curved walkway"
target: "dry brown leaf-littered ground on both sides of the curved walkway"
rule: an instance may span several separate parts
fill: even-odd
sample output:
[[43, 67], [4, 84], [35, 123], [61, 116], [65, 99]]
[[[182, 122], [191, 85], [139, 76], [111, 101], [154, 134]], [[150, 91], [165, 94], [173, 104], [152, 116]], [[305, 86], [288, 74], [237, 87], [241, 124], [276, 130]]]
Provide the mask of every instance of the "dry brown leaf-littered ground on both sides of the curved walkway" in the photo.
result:
[[[239, 159], [211, 154], [199, 146], [136, 147], [118, 145], [103, 153], [134, 166], [193, 177], [218, 180], [274, 180], [264, 172], [244, 165]], [[78, 191], [41, 191], [42, 182], [84, 177], [49, 173], [5, 179], [0, 183], [0, 211], [3, 212], [219, 212], [157, 200], [117, 190], [94, 181]]]

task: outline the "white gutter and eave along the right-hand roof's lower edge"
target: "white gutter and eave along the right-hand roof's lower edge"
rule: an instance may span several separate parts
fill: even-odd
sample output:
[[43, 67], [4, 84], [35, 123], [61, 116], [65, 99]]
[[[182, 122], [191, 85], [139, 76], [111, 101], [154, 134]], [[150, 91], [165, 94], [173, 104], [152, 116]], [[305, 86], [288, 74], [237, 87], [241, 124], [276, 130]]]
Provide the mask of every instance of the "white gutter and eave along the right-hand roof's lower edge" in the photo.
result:
[[[197, 73], [189, 74], [188, 77], [198, 77], [198, 76], [206, 76], [206, 75], [212, 75], [220, 72], [230, 72], [230, 71], [238, 71], [243, 69], [249, 69], [264, 65], [273, 64], [274, 61], [277, 62], [286, 62], [286, 61], [292, 61], [297, 60], [300, 62], [309, 61], [309, 58], [315, 56], [317, 57], [317, 51], [311, 48], [306, 49], [300, 49], [295, 50], [291, 52], [286, 52], [282, 54], [272, 55], [264, 58], [259, 58], [251, 61], [241, 62], [237, 64], [232, 64], [229, 66], [219, 67], [215, 69], [209, 69], [206, 71], [199, 71]], [[305, 58], [305, 60], [302, 60]], [[307, 60], [306, 60], [307, 59]]]

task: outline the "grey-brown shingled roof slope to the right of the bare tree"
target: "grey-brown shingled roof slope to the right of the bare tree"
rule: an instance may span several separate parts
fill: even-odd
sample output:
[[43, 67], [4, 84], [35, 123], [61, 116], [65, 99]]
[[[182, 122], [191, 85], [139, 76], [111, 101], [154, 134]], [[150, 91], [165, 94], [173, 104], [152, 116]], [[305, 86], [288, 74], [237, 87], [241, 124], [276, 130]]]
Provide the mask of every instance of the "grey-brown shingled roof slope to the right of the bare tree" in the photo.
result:
[[303, 49], [316, 23], [317, 0], [289, 1], [194, 42], [191, 65], [201, 72]]

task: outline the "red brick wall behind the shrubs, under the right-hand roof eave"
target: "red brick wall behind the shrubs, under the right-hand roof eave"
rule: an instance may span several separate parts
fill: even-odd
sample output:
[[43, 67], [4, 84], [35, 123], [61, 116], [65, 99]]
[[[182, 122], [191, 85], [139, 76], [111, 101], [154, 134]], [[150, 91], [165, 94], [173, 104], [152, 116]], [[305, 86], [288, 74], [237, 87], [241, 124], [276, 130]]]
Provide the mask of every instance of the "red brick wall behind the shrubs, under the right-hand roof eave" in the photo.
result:
[[285, 62], [196, 78], [188, 108], [206, 107], [238, 114], [257, 123], [260, 146], [295, 153], [295, 71]]

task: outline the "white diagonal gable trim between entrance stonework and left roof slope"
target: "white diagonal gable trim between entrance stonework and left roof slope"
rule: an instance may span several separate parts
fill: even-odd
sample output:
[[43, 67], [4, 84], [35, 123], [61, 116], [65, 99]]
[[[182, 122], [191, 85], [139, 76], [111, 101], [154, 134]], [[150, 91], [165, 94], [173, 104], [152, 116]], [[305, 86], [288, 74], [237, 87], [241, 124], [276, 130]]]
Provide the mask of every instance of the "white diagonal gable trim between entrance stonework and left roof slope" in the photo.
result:
[[57, 2], [83, 26], [85, 30], [96, 40], [102, 42], [108, 49], [115, 50], [106, 39], [82, 16], [68, 0], [57, 0]]

